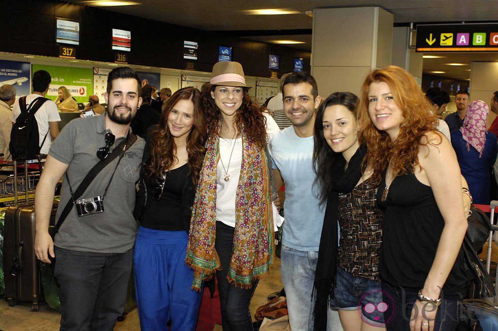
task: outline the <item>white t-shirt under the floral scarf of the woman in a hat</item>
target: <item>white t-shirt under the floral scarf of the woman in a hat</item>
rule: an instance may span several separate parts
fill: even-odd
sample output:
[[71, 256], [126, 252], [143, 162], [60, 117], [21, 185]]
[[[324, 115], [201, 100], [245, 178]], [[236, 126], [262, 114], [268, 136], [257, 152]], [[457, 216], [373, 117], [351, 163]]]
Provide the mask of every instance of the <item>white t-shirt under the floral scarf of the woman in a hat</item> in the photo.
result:
[[[220, 161], [216, 165], [216, 220], [231, 227], [235, 227], [235, 197], [241, 166], [242, 138], [220, 138]], [[224, 179], [227, 173], [228, 182]]]

